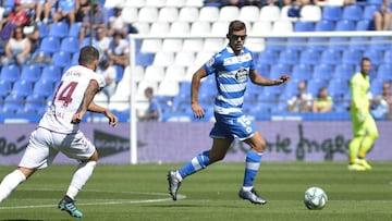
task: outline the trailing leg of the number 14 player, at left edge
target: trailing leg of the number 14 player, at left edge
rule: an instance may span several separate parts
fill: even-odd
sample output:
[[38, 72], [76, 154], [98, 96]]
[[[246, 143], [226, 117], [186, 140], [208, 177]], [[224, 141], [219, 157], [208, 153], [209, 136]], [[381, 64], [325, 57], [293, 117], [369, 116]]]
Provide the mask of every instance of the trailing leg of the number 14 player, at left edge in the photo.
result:
[[57, 151], [50, 151], [48, 143], [50, 134], [48, 131], [37, 128], [32, 132], [27, 148], [21, 159], [16, 170], [4, 176], [0, 184], [0, 202], [7, 199], [10, 194], [24, 181], [26, 181], [37, 169], [44, 169], [48, 165], [49, 155], [57, 155]]

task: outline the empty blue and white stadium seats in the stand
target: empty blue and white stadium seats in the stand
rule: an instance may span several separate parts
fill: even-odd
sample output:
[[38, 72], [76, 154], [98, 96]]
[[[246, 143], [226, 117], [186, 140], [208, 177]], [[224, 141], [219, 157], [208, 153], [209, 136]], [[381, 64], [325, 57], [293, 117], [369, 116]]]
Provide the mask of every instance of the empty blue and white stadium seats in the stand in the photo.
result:
[[[222, 35], [226, 33], [229, 21], [233, 19], [246, 22], [248, 35], [373, 30], [372, 13], [382, 1], [368, 0], [343, 7], [329, 0], [323, 5], [303, 7], [301, 19], [289, 17], [289, 7], [275, 5], [219, 8], [213, 4], [205, 7], [203, 0], [101, 2], [108, 14], [115, 7], [123, 8], [124, 21], [135, 26], [140, 34], [160, 36], [175, 33], [185, 36]], [[82, 46], [91, 44], [90, 38], [85, 38], [83, 44], [78, 45], [81, 26], [82, 23], [69, 25], [64, 21], [39, 24], [40, 45], [34, 56], [50, 56], [51, 63], [1, 66], [2, 113], [41, 113], [46, 109], [47, 99], [60, 81], [62, 71], [77, 63], [78, 49]], [[225, 44], [225, 39], [138, 40], [135, 54], [136, 73], [130, 74], [130, 67], [118, 69], [115, 94], [110, 100], [99, 95], [97, 102], [128, 115], [130, 79], [134, 76], [137, 83], [137, 107], [143, 109], [144, 89], [151, 86], [161, 98], [164, 113], [168, 114], [163, 119], [174, 121], [173, 119], [186, 116], [191, 114], [188, 97], [193, 72]], [[350, 94], [342, 90], [347, 90], [347, 81], [358, 70], [363, 56], [369, 57], [373, 63], [373, 75], [377, 77], [371, 86], [373, 93], [378, 91], [380, 82], [392, 81], [391, 37], [248, 38], [246, 46], [255, 52], [256, 67], [267, 77], [277, 77], [282, 73], [290, 73], [292, 76], [290, 84], [279, 87], [256, 89], [249, 86], [245, 99], [250, 101], [250, 105], [244, 108], [256, 119], [264, 119], [264, 114], [286, 111], [285, 98], [295, 94], [298, 81], [308, 79], [308, 90], [313, 95], [316, 95], [321, 86], [328, 86], [333, 98], [350, 99]], [[30, 85], [28, 89], [22, 87], [22, 82]], [[213, 86], [213, 82], [204, 82], [200, 98], [210, 111], [211, 103], [205, 101], [211, 100], [212, 94], [211, 89], [206, 89], [207, 86]], [[28, 94], [34, 96], [27, 96]], [[15, 99], [22, 101], [9, 103]], [[44, 101], [37, 102], [37, 99]], [[168, 106], [168, 101], [172, 105]], [[347, 111], [347, 103], [336, 103], [333, 111]]]

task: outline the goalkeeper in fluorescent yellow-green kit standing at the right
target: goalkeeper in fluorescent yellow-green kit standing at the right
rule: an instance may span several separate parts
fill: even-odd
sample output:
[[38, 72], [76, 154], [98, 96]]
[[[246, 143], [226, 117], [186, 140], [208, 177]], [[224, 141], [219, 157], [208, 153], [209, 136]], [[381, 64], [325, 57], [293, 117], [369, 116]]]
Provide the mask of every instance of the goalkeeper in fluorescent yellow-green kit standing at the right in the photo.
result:
[[350, 113], [353, 122], [353, 139], [348, 146], [348, 170], [353, 171], [371, 170], [371, 165], [366, 161], [366, 155], [379, 136], [375, 119], [369, 110], [370, 70], [370, 59], [363, 58], [360, 72], [356, 73], [350, 81], [352, 93]]

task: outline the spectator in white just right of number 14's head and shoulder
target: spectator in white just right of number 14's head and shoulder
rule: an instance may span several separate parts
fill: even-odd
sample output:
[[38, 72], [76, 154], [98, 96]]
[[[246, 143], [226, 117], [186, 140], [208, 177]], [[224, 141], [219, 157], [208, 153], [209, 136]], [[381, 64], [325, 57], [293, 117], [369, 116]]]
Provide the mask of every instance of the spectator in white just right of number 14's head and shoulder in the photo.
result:
[[106, 87], [103, 87], [100, 93], [103, 93], [108, 97], [108, 100], [110, 100], [111, 96], [115, 93], [117, 71], [113, 65], [110, 65], [108, 60], [103, 60], [99, 62], [97, 73], [103, 75], [106, 81]]

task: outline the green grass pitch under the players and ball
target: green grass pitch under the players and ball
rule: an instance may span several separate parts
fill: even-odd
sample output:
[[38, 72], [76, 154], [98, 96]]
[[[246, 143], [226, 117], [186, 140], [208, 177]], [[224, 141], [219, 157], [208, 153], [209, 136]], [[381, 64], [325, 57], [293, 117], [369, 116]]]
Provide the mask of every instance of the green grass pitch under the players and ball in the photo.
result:
[[[167, 171], [180, 164], [98, 164], [79, 193], [82, 220], [392, 220], [392, 162], [347, 171], [345, 162], [264, 162], [255, 187], [269, 201], [255, 206], [237, 197], [244, 163], [220, 162], [186, 179], [172, 201]], [[0, 167], [1, 179], [14, 167]], [[74, 165], [37, 172], [0, 205], [0, 221], [75, 220], [57, 209]], [[322, 187], [323, 210], [308, 210], [304, 192]]]

